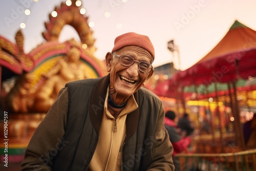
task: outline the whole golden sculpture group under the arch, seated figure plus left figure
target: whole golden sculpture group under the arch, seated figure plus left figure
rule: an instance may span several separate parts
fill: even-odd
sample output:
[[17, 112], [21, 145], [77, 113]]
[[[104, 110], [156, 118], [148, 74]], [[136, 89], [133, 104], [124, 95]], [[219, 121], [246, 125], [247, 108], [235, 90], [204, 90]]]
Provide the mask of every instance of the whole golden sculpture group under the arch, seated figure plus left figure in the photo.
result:
[[66, 83], [95, 77], [80, 56], [79, 46], [72, 44], [66, 56], [55, 59], [55, 64], [48, 66], [47, 71], [25, 74], [10, 93], [8, 101], [12, 110], [15, 113], [47, 113]]

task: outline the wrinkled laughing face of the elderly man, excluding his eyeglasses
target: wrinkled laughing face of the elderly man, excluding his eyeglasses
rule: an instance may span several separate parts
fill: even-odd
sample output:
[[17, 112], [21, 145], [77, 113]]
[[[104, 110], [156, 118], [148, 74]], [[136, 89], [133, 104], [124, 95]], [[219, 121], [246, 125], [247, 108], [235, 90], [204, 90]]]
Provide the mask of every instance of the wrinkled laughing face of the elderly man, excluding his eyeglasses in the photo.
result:
[[[137, 46], [125, 46], [115, 53], [129, 55], [137, 61], [148, 63], [152, 61], [151, 53]], [[118, 56], [111, 53], [106, 55], [106, 68], [110, 72], [110, 95], [116, 103], [122, 103], [133, 95], [153, 74], [153, 70], [150, 73], [141, 72], [137, 62], [130, 67], [125, 67], [119, 63]]]

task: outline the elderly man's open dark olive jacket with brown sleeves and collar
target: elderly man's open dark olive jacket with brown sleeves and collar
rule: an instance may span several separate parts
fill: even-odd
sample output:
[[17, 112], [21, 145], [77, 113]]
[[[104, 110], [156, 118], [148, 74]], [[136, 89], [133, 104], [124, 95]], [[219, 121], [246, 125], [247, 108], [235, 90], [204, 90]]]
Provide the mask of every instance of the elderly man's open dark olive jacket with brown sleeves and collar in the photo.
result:
[[[87, 170], [99, 138], [110, 75], [70, 82], [39, 124], [21, 170]], [[134, 93], [138, 109], [127, 115], [122, 170], [174, 170], [164, 108], [152, 92]]]

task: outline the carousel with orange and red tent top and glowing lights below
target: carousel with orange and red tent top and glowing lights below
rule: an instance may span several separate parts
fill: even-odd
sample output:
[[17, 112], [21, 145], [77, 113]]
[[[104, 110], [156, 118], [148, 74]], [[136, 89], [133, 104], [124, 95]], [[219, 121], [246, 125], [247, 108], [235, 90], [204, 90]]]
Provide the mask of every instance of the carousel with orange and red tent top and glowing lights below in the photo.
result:
[[256, 112], [256, 85], [248, 84], [255, 79], [255, 66], [256, 31], [236, 20], [206, 56], [156, 86], [156, 94], [175, 99], [171, 108], [191, 113], [201, 131], [193, 142], [195, 154], [177, 156], [184, 165], [189, 160], [194, 169], [256, 169], [256, 143], [245, 144], [241, 114], [243, 106], [251, 115]]

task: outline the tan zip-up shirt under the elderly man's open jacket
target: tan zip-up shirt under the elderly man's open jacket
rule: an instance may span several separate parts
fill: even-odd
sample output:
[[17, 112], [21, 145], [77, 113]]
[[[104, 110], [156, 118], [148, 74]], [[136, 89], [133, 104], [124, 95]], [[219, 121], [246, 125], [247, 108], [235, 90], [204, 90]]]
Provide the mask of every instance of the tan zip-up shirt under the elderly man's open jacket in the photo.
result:
[[[109, 92], [109, 89], [108, 89]], [[138, 108], [134, 96], [130, 96], [117, 118], [108, 110], [108, 97], [104, 102], [99, 140], [88, 170], [121, 170], [121, 147], [125, 138], [127, 114]]]

